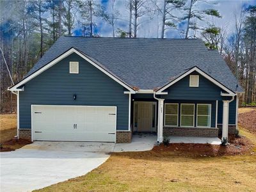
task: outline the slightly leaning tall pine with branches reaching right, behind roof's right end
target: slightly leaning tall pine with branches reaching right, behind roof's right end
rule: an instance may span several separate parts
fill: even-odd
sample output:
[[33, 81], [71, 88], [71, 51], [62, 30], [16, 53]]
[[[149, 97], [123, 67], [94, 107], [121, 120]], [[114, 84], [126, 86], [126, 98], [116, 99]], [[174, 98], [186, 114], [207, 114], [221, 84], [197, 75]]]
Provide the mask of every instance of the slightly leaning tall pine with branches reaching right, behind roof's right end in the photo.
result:
[[[185, 38], [189, 38], [188, 33], [189, 29], [193, 29], [194, 31], [200, 29], [200, 27], [196, 23], [196, 19], [203, 20], [206, 15], [210, 15], [212, 17], [221, 17], [220, 13], [214, 9], [200, 10], [198, 8], [198, 2], [205, 2], [202, 0], [189, 0], [188, 5], [184, 8], [185, 17], [183, 20], [187, 20], [187, 27], [185, 32]], [[194, 35], [194, 38], [196, 36]]]

